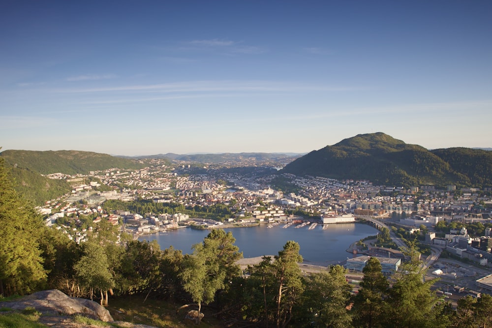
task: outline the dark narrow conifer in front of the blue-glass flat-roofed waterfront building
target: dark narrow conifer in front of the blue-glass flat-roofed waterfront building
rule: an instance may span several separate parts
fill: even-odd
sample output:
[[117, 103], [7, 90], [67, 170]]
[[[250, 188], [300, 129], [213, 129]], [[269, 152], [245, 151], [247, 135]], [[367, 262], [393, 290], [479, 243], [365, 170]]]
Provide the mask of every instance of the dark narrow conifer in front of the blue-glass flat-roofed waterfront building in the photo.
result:
[[375, 257], [369, 258], [362, 272], [364, 278], [352, 309], [354, 326], [382, 327], [387, 308], [388, 281], [383, 275], [381, 263]]

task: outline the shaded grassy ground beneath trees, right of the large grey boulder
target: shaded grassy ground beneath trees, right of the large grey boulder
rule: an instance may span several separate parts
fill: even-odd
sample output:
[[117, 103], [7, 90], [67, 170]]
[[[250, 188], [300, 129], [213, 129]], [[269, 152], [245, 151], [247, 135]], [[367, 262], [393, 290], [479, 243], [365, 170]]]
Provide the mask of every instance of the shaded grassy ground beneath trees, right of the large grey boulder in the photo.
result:
[[[183, 304], [174, 304], [168, 301], [148, 298], [145, 303], [143, 297], [122, 297], [109, 300], [106, 308], [115, 321], [126, 321], [134, 324], [143, 324], [154, 327], [190, 328], [196, 327], [190, 321], [184, 321], [185, 310], [176, 314], [176, 309]], [[215, 319], [202, 307], [205, 312], [200, 327], [223, 327], [223, 322]]]

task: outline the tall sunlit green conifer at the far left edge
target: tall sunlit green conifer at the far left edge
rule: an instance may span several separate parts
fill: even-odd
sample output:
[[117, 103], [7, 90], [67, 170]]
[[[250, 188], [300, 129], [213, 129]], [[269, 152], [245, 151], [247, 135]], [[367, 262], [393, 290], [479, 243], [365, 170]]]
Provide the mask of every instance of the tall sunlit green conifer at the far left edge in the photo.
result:
[[46, 283], [39, 249], [43, 231], [34, 207], [14, 190], [0, 157], [0, 294], [31, 293]]

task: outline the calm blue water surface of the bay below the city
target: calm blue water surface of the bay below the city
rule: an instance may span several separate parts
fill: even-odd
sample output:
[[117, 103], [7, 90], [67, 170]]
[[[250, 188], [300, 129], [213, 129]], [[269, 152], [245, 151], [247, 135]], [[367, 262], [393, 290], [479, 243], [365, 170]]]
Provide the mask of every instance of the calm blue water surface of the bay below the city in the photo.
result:
[[[295, 225], [282, 228], [280, 224], [273, 228], [267, 228], [267, 224], [261, 224], [248, 228], [224, 229], [231, 231], [236, 238], [236, 245], [243, 252], [244, 257], [256, 257], [263, 255], [277, 255], [288, 240], [294, 240], [301, 246], [300, 254], [305, 263], [328, 264], [346, 260], [352, 257], [346, 249], [353, 242], [367, 236], [376, 235], [378, 230], [364, 223], [332, 224], [323, 230], [322, 224], [315, 229], [308, 230], [307, 226], [296, 229]], [[191, 246], [202, 242], [210, 233], [209, 230], [194, 230], [181, 228], [174, 231], [146, 235], [139, 240], [156, 239], [161, 249], [173, 246], [181, 249], [183, 253], [191, 253]]]

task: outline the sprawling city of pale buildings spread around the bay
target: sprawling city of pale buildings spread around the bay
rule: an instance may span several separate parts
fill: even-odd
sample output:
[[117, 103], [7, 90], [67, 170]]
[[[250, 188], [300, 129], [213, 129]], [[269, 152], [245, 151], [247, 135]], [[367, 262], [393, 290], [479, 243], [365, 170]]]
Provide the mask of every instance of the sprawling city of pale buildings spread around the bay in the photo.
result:
[[[365, 255], [384, 260], [391, 252], [390, 258], [394, 260], [389, 264], [391, 269], [387, 273], [397, 271], [400, 265], [398, 259], [404, 260], [399, 249], [406, 247], [400, 238], [413, 237], [419, 238], [422, 245], [423, 266], [428, 269], [429, 279], [438, 276], [440, 282], [434, 287], [439, 292], [446, 292], [454, 304], [463, 295], [476, 297], [482, 292], [491, 293], [490, 188], [457, 190], [454, 185], [448, 185], [446, 190], [439, 190], [428, 185], [405, 189], [377, 186], [368, 181], [303, 178], [292, 174], [278, 176], [266, 174], [264, 168], [258, 169], [258, 172], [261, 174], [230, 173], [220, 168], [205, 170], [204, 167], [197, 167], [196, 163], [170, 164], [152, 159], [148, 167], [135, 171], [114, 168], [89, 175], [55, 174], [49, 177], [67, 179], [76, 184], [70, 195], [47, 202], [39, 211], [45, 215], [47, 225], [62, 229], [77, 243], [88, 239], [91, 220], [97, 223], [101, 219], [120, 225], [122, 231], [137, 239], [146, 234], [190, 225], [199, 229], [214, 229], [274, 222], [291, 225], [292, 222], [311, 221], [323, 224], [329, 222], [330, 217], [339, 220], [342, 216], [348, 216], [345, 221], [332, 218], [330, 222], [367, 220], [380, 230], [383, 227], [388, 229], [396, 242], [393, 250], [377, 246], [364, 249], [354, 245], [355, 264], [352, 260], [347, 260], [346, 264], [353, 281], [362, 278], [360, 273], [364, 265], [361, 267], [357, 263], [365, 263], [368, 259]], [[283, 193], [275, 188], [279, 177], [282, 183], [287, 182], [296, 192]], [[92, 181], [84, 183], [89, 180]], [[104, 202], [108, 200], [146, 200], [161, 206], [172, 204], [175, 212], [108, 211], [104, 209]], [[208, 218], [200, 216], [201, 209], [217, 206], [225, 209], [226, 214]], [[199, 210], [195, 212], [195, 209]], [[468, 232], [465, 228], [467, 225], [475, 228]], [[347, 248], [349, 246], [346, 245]], [[350, 249], [354, 250], [353, 247]], [[441, 256], [443, 251], [447, 254], [445, 258]], [[251, 264], [247, 259], [242, 261]], [[303, 266], [307, 271], [324, 269]]]

